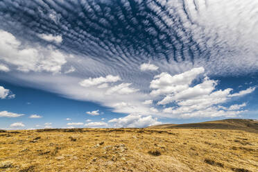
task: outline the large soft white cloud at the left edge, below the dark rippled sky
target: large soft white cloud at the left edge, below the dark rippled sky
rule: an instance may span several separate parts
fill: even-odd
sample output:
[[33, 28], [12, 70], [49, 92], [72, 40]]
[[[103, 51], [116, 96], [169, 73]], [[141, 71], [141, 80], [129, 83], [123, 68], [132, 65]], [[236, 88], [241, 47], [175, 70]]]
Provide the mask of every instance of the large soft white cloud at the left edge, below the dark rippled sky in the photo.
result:
[[24, 47], [14, 35], [0, 30], [0, 60], [15, 65], [18, 71], [49, 71], [58, 73], [66, 55], [52, 46]]

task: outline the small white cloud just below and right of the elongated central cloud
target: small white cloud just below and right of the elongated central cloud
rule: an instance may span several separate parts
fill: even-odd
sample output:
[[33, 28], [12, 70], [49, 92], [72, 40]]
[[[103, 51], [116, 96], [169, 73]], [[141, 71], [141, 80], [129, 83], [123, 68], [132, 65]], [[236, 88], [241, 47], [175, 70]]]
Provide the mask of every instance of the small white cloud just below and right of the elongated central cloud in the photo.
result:
[[115, 85], [114, 87], [110, 87], [109, 89], [107, 89], [107, 92], [105, 92], [105, 94], [131, 94], [139, 90], [129, 87], [130, 85], [132, 85], [132, 83], [121, 83], [119, 85]]

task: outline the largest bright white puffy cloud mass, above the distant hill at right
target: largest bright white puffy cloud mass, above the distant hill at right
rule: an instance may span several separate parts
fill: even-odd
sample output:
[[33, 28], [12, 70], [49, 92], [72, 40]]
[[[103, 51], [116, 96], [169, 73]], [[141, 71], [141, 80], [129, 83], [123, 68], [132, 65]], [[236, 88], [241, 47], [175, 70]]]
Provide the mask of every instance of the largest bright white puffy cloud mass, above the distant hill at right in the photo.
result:
[[[191, 69], [191, 71], [198, 70]], [[179, 75], [183, 76], [183, 78], [189, 76], [185, 74], [189, 74], [189, 71]], [[195, 74], [198, 74], [198, 72]], [[179, 75], [175, 75], [173, 78], [166, 77], [168, 79], [166, 83], [172, 83], [171, 80], [180, 78]], [[221, 106], [221, 104], [230, 101], [230, 98], [233, 96], [243, 96], [255, 90], [254, 88], [250, 88], [236, 94], [230, 94], [233, 89], [216, 90], [217, 81], [210, 80], [207, 76], [199, 84], [193, 86], [191, 86], [191, 83], [195, 79], [194, 77], [191, 80], [188, 77], [185, 78], [187, 80], [185, 82], [183, 78], [180, 78], [178, 85], [184, 83], [184, 89], [162, 92], [164, 98], [157, 103], [157, 105], [175, 104], [172, 107], [166, 107], [162, 110], [163, 114], [167, 114], [166, 117], [236, 117], [236, 115], [246, 112], [245, 110], [239, 110], [241, 107], [246, 106], [246, 103], [232, 105], [228, 108]], [[177, 87], [178, 85], [177, 83], [173, 83], [173, 87]]]

